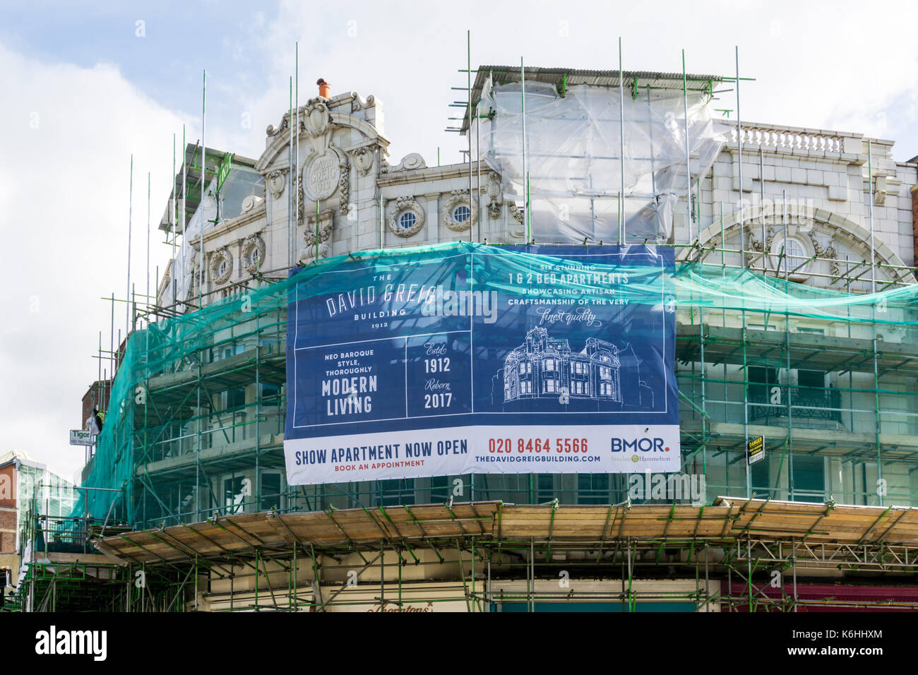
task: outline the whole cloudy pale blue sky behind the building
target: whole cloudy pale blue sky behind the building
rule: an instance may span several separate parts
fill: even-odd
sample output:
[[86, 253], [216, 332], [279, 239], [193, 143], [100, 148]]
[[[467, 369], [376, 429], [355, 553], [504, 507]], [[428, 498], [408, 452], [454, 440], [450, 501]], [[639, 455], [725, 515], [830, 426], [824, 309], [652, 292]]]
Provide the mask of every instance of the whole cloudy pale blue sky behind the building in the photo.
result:
[[[856, 131], [918, 155], [918, 6], [908, 2], [0, 2], [0, 454], [72, 477], [81, 399], [108, 343], [112, 293], [150, 287], [169, 258], [156, 224], [173, 139], [257, 158], [299, 100], [374, 95], [390, 163], [461, 160], [444, 129], [471, 61], [734, 76], [744, 120]], [[718, 108], [735, 111], [733, 85]], [[735, 114], [734, 112], [732, 114]], [[177, 149], [181, 155], [180, 147]], [[133, 156], [133, 173], [131, 173]], [[148, 201], [149, 174], [149, 201]], [[132, 198], [131, 182], [133, 185]], [[115, 331], [126, 328], [117, 303]], [[104, 347], [106, 348], [106, 347]]]

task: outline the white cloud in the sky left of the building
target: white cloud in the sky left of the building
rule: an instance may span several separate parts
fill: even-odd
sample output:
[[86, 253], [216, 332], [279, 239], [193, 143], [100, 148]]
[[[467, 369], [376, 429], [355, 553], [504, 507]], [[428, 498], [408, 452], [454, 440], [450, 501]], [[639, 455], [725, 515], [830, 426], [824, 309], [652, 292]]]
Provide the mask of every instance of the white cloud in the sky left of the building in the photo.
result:
[[[147, 172], [155, 269], [168, 253], [155, 227], [169, 191], [172, 132], [181, 126], [111, 65], [42, 63], [0, 45], [0, 69], [2, 450], [21, 448], [69, 477], [84, 454], [67, 432], [82, 427], [80, 397], [97, 373], [100, 329], [108, 348], [110, 309], [100, 298], [127, 290], [130, 153], [131, 276], [145, 292]], [[124, 332], [123, 303], [115, 323]]]

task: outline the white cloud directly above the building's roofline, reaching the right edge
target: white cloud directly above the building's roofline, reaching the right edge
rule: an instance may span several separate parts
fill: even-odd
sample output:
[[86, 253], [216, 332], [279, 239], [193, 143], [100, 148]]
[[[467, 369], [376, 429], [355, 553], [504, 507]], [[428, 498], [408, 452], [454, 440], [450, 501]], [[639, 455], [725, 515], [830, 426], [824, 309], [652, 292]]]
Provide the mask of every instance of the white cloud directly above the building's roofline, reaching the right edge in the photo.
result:
[[[287, 77], [299, 40], [300, 102], [324, 77], [333, 92], [374, 94], [386, 110], [392, 159], [420, 152], [436, 162], [459, 161], [465, 140], [443, 131], [448, 107], [464, 101], [465, 29], [471, 28], [472, 66], [517, 65], [615, 69], [619, 36], [624, 68], [735, 74], [739, 47], [744, 119], [778, 125], [901, 135], [900, 159], [918, 152], [918, 137], [892, 128], [881, 114], [903, 93], [918, 91], [913, 26], [918, 6], [876, 8], [854, 1], [800, 2], [541, 2], [481, 0], [438, 7], [430, 2], [357, 2], [314, 6], [285, 0], [277, 17], [252, 33], [274, 76], [252, 102], [258, 132], [276, 124], [288, 105]], [[733, 84], [717, 107], [735, 111]], [[890, 116], [891, 118], [892, 116]], [[735, 112], [733, 112], [735, 118]], [[263, 124], [261, 123], [263, 122]], [[452, 123], [454, 124], [454, 122]], [[252, 143], [253, 152], [262, 144]]]

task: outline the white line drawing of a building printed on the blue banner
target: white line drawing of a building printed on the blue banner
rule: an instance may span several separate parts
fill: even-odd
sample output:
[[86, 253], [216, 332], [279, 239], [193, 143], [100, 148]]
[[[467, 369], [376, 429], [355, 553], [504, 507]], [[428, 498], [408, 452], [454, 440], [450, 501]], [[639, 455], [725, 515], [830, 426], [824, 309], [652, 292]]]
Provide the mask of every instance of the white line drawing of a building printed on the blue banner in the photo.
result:
[[557, 397], [625, 403], [621, 391], [621, 350], [612, 343], [587, 338], [581, 352], [572, 352], [566, 338], [549, 337], [541, 326], [526, 332], [526, 342], [504, 359], [504, 402]]

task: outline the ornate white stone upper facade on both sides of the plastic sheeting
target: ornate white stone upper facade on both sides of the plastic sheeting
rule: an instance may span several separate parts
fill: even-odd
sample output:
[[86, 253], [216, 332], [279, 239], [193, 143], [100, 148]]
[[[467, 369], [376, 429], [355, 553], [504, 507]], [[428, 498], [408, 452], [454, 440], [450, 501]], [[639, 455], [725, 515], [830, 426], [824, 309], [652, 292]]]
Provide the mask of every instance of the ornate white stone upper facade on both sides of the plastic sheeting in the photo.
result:
[[[297, 189], [291, 195], [289, 117], [285, 113], [278, 128], [267, 129], [265, 150], [252, 162], [263, 175], [263, 196], [252, 197], [240, 216], [205, 230], [205, 303], [258, 283], [256, 273], [280, 278], [291, 263], [308, 264], [317, 255], [463, 239], [523, 242], [520, 197], [502, 194], [498, 175], [484, 163], [471, 163], [471, 190], [469, 163], [428, 166], [416, 153], [389, 163], [382, 104], [374, 96], [316, 97], [299, 108]], [[843, 277], [865, 261], [869, 266], [869, 142], [876, 281], [880, 287], [914, 283], [910, 190], [918, 165], [893, 161], [892, 141], [751, 123], [742, 129], [742, 195], [734, 130], [693, 190], [690, 221], [684, 198], [676, 208], [669, 242], [678, 257], [741, 264], [742, 243], [752, 269], [775, 274], [779, 267], [781, 276], [787, 272], [796, 281], [868, 292], [870, 274], [853, 283]], [[198, 237], [187, 243], [197, 250]], [[813, 255], [818, 259], [808, 261]], [[163, 277], [161, 305], [174, 303], [173, 266]], [[196, 286], [178, 299], [191, 296]]]

